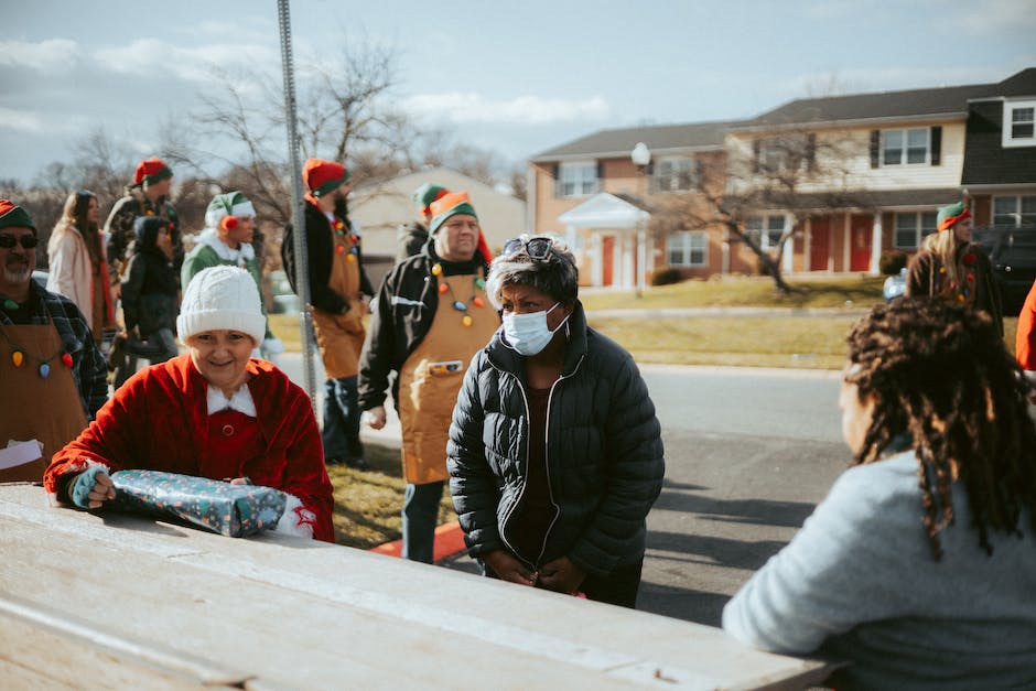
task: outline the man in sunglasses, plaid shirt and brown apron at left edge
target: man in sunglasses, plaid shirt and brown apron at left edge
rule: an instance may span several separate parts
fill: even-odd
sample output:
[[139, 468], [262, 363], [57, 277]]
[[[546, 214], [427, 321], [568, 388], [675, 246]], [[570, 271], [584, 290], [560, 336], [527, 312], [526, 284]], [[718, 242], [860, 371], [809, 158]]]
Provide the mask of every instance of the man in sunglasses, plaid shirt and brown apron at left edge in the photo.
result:
[[0, 444], [23, 442], [0, 449], [0, 482], [42, 479], [108, 398], [86, 317], [32, 280], [39, 242], [25, 209], [0, 199]]

